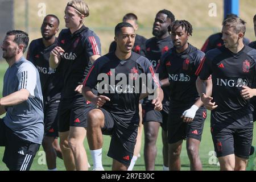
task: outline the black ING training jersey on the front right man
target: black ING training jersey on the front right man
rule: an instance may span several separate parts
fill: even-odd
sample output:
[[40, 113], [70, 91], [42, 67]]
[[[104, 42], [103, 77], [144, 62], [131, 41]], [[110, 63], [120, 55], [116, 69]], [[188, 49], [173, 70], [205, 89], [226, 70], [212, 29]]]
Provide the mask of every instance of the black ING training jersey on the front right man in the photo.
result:
[[[255, 78], [256, 50], [244, 46], [233, 53], [224, 46], [208, 51], [198, 73], [207, 80], [212, 75], [212, 126], [228, 128], [253, 127], [250, 100], [241, 96], [242, 86], [252, 87]], [[242, 118], [242, 119], [241, 119]]]

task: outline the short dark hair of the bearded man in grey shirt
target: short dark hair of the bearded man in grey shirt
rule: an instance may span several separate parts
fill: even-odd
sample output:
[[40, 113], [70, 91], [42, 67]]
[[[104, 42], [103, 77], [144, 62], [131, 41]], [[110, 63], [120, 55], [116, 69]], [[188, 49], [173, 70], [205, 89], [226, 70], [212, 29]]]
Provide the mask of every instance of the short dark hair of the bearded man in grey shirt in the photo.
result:
[[28, 34], [26, 32], [23, 32], [21, 30], [10, 30], [6, 33], [6, 36], [15, 35], [14, 42], [18, 45], [23, 44], [24, 49], [23, 53], [26, 51], [26, 48], [28, 46], [28, 42], [30, 39], [28, 38]]

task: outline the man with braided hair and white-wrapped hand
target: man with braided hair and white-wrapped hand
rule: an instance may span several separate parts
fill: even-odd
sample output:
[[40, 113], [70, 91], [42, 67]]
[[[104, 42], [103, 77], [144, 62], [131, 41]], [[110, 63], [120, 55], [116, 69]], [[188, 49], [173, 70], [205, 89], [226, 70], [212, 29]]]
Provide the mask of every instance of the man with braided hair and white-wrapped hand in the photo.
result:
[[[180, 152], [187, 139], [191, 170], [201, 170], [199, 145], [203, 133], [206, 110], [196, 89], [195, 75], [204, 53], [188, 43], [192, 26], [186, 20], [175, 20], [171, 27], [174, 48], [165, 53], [156, 70], [163, 86], [170, 85], [168, 115], [169, 168], [180, 170]], [[181, 78], [182, 77], [182, 78]], [[167, 78], [167, 79], [166, 79]], [[211, 80], [207, 81], [211, 84]]]

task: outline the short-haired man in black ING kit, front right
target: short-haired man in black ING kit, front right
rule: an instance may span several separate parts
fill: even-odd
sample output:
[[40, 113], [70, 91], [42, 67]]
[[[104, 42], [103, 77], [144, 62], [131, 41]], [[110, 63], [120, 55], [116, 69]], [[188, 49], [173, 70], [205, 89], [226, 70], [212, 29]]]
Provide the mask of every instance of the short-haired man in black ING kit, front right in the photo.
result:
[[[197, 89], [207, 109], [214, 150], [221, 170], [245, 170], [253, 140], [253, 111], [250, 98], [255, 78], [256, 50], [243, 44], [245, 21], [228, 18], [223, 22], [224, 46], [208, 51], [199, 67]], [[212, 75], [212, 96], [203, 82]]]

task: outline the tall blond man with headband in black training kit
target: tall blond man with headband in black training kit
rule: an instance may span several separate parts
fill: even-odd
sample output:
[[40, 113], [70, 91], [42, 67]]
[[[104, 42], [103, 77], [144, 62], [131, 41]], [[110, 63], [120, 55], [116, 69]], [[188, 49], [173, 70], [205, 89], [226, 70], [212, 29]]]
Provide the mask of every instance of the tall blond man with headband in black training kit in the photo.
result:
[[59, 45], [50, 55], [51, 68], [63, 73], [64, 86], [59, 106], [59, 137], [67, 170], [88, 170], [84, 148], [86, 137], [86, 115], [94, 105], [82, 97], [82, 81], [92, 63], [101, 55], [98, 36], [84, 26], [89, 16], [84, 1], [69, 1], [65, 8], [65, 26], [59, 34]]

